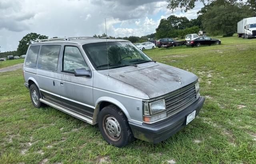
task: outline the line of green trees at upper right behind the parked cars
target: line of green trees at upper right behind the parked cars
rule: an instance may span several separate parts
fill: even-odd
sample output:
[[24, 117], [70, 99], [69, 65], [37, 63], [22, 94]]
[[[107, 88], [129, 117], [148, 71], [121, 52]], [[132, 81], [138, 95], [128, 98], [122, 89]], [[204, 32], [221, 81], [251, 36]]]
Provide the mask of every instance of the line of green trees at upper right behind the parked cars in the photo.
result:
[[205, 4], [197, 12], [196, 19], [173, 15], [162, 19], [156, 28], [157, 38], [184, 38], [186, 32], [197, 33], [198, 28], [209, 35], [232, 36], [239, 20], [256, 16], [256, 0], [168, 0], [167, 8], [171, 11], [181, 8], [187, 12], [195, 7], [196, 2]]

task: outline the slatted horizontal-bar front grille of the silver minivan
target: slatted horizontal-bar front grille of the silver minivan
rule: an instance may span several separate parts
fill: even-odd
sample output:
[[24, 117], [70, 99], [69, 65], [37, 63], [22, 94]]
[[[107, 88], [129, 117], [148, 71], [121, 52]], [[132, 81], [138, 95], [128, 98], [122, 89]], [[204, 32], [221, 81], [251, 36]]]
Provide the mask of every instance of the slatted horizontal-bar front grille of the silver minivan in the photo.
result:
[[195, 83], [182, 87], [165, 98], [167, 116], [170, 117], [182, 111], [196, 100]]

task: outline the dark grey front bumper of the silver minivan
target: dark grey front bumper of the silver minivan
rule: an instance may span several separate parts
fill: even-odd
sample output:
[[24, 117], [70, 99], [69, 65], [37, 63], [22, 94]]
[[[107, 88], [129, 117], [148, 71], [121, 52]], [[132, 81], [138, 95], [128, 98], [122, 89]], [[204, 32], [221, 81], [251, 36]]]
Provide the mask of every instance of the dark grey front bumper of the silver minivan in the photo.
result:
[[155, 124], [142, 123], [142, 125], [138, 125], [134, 123], [129, 123], [134, 138], [153, 143], [158, 143], [166, 140], [167, 138], [169, 138], [186, 126], [187, 115], [192, 113], [194, 110], [196, 110], [196, 116], [198, 115], [200, 109], [204, 104], [204, 99], [204, 97], [200, 96], [198, 100], [196, 100], [183, 111], [164, 121], [160, 121]]

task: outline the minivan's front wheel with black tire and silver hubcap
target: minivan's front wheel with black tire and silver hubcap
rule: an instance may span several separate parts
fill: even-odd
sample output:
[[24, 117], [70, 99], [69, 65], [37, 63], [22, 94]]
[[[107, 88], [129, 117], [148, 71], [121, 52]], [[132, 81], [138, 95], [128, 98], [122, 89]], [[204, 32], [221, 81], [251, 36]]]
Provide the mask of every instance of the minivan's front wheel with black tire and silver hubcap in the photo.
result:
[[116, 147], [123, 147], [134, 139], [126, 116], [115, 105], [108, 105], [100, 111], [98, 126], [103, 138]]

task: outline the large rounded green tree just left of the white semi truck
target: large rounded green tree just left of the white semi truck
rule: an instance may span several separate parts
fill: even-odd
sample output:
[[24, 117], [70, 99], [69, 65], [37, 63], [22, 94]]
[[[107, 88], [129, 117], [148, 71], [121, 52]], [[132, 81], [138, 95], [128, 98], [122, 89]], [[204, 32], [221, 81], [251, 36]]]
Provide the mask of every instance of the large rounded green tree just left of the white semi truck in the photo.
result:
[[202, 24], [210, 34], [232, 36], [237, 30], [237, 22], [252, 16], [251, 14], [252, 12], [246, 10], [246, 6], [213, 6], [203, 14]]

